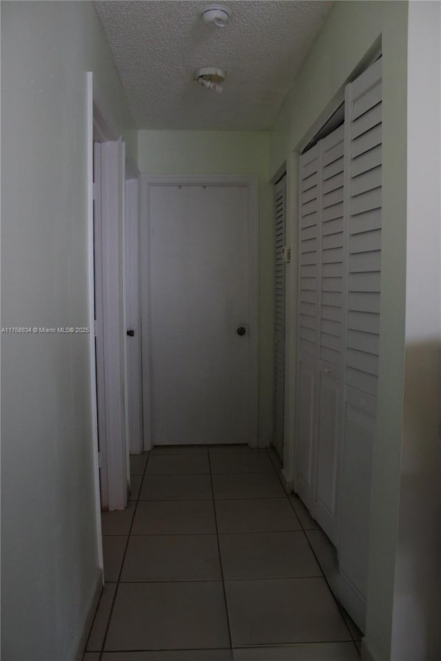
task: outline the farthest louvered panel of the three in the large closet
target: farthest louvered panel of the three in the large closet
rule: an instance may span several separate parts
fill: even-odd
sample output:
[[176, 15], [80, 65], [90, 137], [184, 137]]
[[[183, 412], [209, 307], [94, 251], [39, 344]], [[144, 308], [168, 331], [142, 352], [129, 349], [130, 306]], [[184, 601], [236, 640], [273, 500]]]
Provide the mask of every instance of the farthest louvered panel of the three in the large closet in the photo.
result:
[[314, 507], [316, 391], [318, 381], [318, 252], [321, 196], [319, 145], [300, 156], [297, 485], [309, 510]]

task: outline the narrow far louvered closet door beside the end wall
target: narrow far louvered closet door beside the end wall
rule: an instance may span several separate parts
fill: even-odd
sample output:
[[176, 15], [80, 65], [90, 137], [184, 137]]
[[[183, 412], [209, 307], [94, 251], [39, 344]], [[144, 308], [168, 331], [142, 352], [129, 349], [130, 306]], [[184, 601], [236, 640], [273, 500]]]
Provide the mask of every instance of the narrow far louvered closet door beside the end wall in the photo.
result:
[[283, 460], [283, 430], [285, 425], [285, 262], [286, 243], [286, 176], [274, 187], [275, 227], [275, 373], [274, 373], [274, 446]]

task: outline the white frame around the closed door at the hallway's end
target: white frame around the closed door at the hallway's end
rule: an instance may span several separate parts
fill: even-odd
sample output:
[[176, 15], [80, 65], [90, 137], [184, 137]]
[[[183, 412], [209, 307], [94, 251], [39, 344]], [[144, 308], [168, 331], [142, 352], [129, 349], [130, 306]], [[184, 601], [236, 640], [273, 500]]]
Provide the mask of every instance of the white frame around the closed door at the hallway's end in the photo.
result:
[[248, 264], [249, 264], [249, 445], [258, 447], [258, 350], [259, 350], [259, 216], [258, 175], [190, 174], [145, 175], [141, 178], [141, 327], [143, 365], [144, 449], [152, 448], [152, 381], [151, 381], [151, 278], [150, 278], [150, 189], [152, 186], [231, 186], [248, 190]]

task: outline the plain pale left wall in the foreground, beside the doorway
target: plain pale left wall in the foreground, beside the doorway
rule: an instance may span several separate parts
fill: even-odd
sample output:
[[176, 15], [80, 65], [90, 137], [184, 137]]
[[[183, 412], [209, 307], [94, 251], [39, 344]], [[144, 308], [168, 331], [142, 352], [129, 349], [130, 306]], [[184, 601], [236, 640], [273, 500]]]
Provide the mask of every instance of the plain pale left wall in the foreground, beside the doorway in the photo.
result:
[[[136, 158], [92, 3], [1, 3], [2, 326], [87, 326], [86, 80]], [[2, 658], [73, 659], [99, 581], [86, 335], [2, 339]]]

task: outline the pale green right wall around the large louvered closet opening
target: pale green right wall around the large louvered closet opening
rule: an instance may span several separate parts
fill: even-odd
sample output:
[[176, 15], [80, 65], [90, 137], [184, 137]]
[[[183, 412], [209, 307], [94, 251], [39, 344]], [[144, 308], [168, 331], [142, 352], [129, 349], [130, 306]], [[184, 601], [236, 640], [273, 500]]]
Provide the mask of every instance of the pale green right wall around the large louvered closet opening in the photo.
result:
[[[378, 432], [373, 452], [366, 645], [376, 661], [391, 653], [400, 453], [402, 445], [407, 213], [407, 3], [336, 2], [270, 132], [270, 175], [288, 164], [288, 209], [295, 245], [297, 159], [356, 74], [382, 41], [382, 295]], [[340, 97], [341, 98], [341, 97]], [[296, 254], [296, 251], [294, 251]], [[296, 268], [295, 264], [289, 268]], [[295, 275], [291, 273], [293, 282]], [[294, 392], [291, 393], [294, 402]], [[293, 452], [291, 452], [292, 459]], [[294, 465], [291, 461], [291, 470]]]

